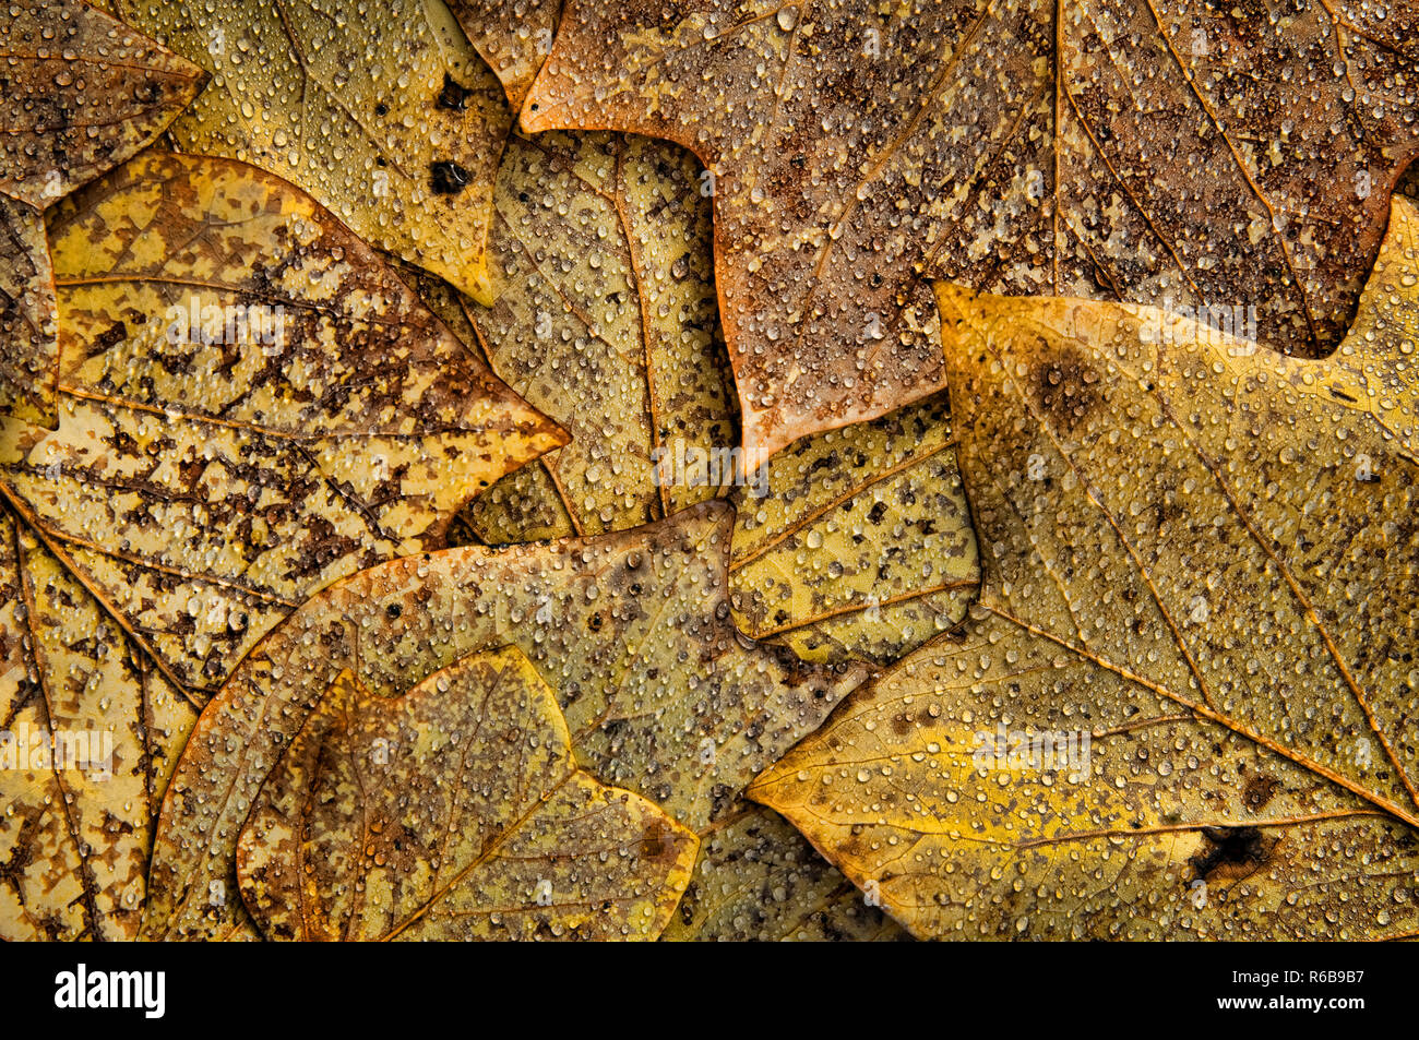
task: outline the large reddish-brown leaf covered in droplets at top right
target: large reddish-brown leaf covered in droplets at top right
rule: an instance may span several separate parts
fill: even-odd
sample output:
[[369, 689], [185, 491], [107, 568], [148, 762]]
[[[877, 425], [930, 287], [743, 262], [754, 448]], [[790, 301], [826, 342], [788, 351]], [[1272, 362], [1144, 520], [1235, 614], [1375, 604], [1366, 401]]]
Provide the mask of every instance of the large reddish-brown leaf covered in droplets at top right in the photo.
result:
[[1256, 308], [1320, 356], [1412, 116], [1419, 6], [568, 0], [529, 131], [677, 140], [715, 172], [744, 441], [944, 383], [929, 280]]

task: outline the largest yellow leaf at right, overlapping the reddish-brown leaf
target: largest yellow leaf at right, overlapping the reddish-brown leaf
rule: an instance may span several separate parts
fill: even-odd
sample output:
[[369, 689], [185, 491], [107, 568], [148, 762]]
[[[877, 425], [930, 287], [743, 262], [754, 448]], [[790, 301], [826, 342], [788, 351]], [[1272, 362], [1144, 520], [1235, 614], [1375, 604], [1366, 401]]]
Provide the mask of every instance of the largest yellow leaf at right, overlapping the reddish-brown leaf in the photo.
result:
[[1419, 928], [1419, 210], [1296, 360], [939, 289], [981, 610], [755, 782], [920, 936]]

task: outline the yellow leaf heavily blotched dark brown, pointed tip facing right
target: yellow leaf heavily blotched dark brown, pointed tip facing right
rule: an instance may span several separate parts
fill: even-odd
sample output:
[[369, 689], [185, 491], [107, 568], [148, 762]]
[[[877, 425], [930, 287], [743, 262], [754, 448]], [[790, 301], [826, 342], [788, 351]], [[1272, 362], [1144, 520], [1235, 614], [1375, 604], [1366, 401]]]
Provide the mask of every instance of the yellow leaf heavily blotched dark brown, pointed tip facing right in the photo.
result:
[[50, 214], [61, 423], [0, 494], [182, 685], [565, 443], [277, 177], [146, 153]]

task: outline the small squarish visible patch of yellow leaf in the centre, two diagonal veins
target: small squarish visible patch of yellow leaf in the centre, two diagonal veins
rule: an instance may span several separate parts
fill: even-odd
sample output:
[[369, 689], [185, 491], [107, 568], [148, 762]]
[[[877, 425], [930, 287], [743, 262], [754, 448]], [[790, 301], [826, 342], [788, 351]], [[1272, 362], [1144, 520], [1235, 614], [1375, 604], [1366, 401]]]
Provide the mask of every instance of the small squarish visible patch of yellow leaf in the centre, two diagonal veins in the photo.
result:
[[735, 494], [735, 621], [809, 661], [891, 663], [981, 583], [945, 394], [807, 437]]

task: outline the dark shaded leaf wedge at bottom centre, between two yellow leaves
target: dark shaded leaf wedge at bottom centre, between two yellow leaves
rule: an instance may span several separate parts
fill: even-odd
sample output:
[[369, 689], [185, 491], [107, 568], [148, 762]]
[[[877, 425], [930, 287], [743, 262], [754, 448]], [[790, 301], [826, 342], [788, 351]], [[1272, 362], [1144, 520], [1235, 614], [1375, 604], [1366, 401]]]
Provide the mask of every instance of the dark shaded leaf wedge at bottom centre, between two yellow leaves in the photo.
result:
[[667, 942], [890, 942], [910, 938], [782, 817], [758, 806], [712, 824]]

